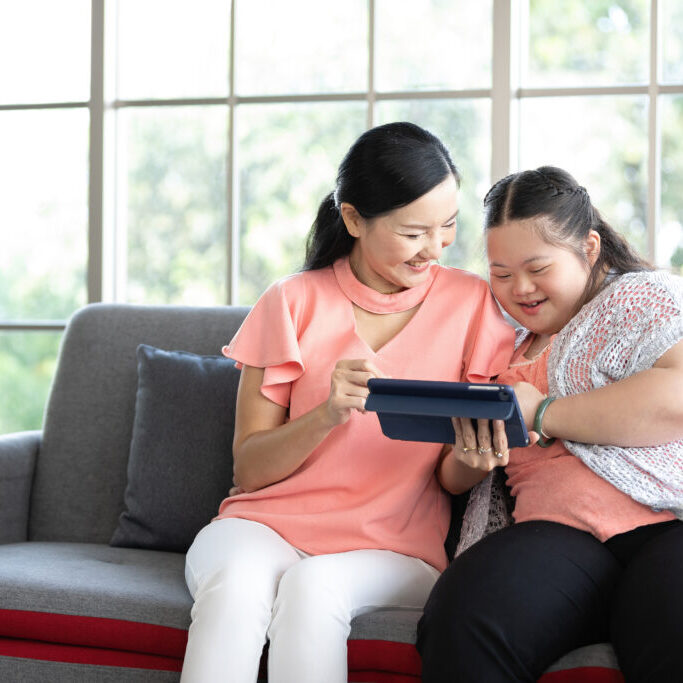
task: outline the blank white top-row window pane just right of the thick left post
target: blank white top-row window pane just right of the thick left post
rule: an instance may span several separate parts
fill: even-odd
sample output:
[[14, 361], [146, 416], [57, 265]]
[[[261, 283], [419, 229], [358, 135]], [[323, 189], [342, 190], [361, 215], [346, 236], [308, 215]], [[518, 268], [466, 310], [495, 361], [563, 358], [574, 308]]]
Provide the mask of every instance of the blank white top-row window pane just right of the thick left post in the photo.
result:
[[116, 94], [226, 97], [229, 43], [226, 0], [119, 0]]

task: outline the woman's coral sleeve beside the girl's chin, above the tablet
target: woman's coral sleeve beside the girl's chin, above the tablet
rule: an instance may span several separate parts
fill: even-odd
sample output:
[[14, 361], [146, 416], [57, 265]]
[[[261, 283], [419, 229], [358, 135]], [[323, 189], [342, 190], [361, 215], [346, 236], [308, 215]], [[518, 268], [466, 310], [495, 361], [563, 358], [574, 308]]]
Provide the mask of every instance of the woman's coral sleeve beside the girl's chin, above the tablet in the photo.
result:
[[503, 318], [488, 285], [482, 282], [481, 288], [463, 360], [462, 379], [466, 382], [488, 382], [506, 370], [515, 345], [514, 328]]

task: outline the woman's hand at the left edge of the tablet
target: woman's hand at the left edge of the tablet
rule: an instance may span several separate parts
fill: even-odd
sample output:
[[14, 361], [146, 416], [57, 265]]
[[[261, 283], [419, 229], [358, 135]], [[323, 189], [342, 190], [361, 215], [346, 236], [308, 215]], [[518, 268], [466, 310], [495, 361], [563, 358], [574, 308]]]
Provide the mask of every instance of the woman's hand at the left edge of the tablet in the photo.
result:
[[365, 359], [340, 360], [332, 371], [330, 395], [323, 404], [327, 419], [332, 425], [344, 424], [357, 410], [365, 412], [368, 397], [368, 380], [386, 375], [371, 361]]

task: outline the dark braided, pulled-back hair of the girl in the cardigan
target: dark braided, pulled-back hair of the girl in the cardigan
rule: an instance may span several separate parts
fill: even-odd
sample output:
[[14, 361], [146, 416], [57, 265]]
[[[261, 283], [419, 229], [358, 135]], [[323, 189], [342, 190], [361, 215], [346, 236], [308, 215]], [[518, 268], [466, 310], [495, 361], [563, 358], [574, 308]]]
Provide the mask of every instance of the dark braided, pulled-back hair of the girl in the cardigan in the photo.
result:
[[545, 218], [536, 225], [543, 239], [571, 249], [584, 260], [583, 241], [595, 230], [600, 235], [600, 255], [591, 269], [580, 305], [597, 294], [601, 275], [607, 271], [621, 275], [653, 269], [602, 218], [586, 188], [561, 168], [541, 166], [506, 176], [484, 197], [484, 212], [485, 230], [508, 221]]

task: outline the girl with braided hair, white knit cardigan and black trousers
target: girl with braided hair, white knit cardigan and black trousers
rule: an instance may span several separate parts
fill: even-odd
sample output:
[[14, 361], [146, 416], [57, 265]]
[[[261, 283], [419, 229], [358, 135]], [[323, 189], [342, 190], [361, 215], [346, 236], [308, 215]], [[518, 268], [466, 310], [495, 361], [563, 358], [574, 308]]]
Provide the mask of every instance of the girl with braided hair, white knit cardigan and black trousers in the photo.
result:
[[558, 168], [508, 176], [484, 204], [491, 287], [526, 328], [498, 381], [541, 438], [509, 456], [515, 523], [459, 555], [429, 598], [423, 680], [536, 681], [611, 641], [629, 683], [681, 681], [681, 281]]

